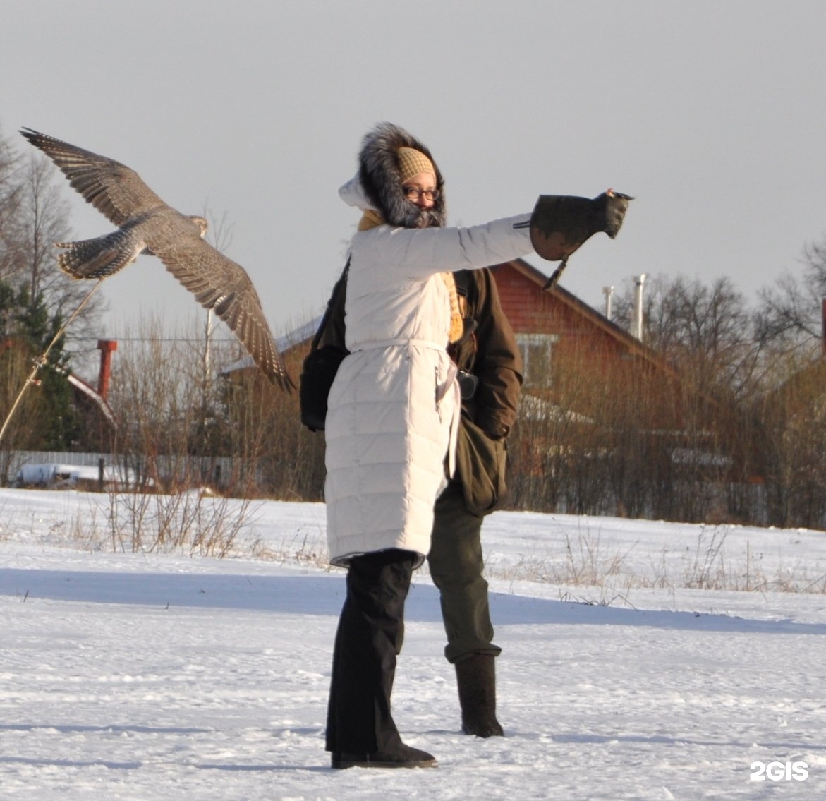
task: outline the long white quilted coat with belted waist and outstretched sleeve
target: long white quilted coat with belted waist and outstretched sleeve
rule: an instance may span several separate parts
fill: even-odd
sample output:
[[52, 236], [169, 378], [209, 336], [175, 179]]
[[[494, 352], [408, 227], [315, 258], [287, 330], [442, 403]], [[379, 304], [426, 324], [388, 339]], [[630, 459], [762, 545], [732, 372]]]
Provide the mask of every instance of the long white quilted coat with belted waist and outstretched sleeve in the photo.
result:
[[[340, 190], [367, 208], [354, 179]], [[531, 251], [529, 214], [469, 228], [377, 226], [350, 250], [344, 359], [330, 390], [325, 501], [330, 561], [430, 548], [433, 505], [458, 423], [458, 384], [445, 347], [445, 270], [475, 269]]]

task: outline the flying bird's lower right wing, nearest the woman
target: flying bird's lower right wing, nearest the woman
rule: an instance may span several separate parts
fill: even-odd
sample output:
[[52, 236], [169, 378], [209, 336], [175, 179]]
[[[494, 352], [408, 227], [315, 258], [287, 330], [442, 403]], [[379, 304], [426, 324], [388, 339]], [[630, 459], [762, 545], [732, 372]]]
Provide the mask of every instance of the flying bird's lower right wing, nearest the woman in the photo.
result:
[[211, 308], [230, 327], [270, 381], [287, 391], [294, 389], [258, 293], [241, 265], [196, 237], [182, 238], [174, 246], [154, 250], [154, 254], [198, 303]]

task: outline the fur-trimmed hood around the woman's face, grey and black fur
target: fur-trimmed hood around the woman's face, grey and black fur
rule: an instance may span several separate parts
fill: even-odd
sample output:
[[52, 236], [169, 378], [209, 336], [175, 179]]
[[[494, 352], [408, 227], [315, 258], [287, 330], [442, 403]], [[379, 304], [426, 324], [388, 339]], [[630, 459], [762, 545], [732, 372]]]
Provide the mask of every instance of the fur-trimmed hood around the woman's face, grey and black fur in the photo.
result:
[[[400, 147], [419, 150], [433, 164], [439, 198], [432, 208], [421, 209], [401, 191], [398, 160]], [[407, 131], [390, 122], [382, 122], [364, 136], [358, 153], [358, 173], [339, 189], [339, 195], [344, 203], [351, 206], [373, 209], [392, 226], [430, 228], [444, 226], [447, 221], [444, 179], [430, 150]]]

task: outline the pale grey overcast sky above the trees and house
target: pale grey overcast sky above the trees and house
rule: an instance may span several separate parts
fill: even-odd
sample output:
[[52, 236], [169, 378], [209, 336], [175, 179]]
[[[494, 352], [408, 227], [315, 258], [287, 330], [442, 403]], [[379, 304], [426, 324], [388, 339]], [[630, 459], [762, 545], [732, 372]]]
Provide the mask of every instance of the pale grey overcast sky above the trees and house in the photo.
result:
[[[752, 300], [826, 235], [824, 34], [823, 0], [0, 0], [0, 131], [225, 219], [276, 336], [320, 313], [358, 216], [337, 190], [384, 120], [432, 150], [451, 224], [633, 194], [563, 277], [595, 308], [640, 273]], [[111, 229], [64, 185], [76, 238]], [[198, 313], [150, 257], [102, 290], [104, 336]]]

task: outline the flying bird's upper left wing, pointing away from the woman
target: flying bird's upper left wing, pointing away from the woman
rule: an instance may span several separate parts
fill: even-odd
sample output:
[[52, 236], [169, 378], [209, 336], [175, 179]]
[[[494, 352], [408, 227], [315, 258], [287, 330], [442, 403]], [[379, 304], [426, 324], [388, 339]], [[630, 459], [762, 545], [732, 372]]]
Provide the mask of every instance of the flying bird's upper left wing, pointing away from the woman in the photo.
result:
[[166, 206], [140, 175], [125, 164], [31, 128], [20, 132], [58, 165], [87, 203], [116, 226], [142, 212]]

